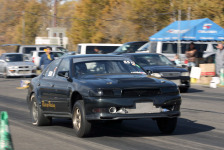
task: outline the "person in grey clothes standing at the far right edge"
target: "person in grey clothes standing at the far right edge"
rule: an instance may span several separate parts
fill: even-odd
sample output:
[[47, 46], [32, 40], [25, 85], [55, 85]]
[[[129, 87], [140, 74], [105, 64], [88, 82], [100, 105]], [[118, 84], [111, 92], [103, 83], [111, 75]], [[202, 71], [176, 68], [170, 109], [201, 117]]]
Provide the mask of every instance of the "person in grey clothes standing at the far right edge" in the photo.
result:
[[218, 43], [216, 46], [217, 52], [215, 55], [215, 68], [216, 68], [216, 74], [220, 75], [220, 70], [224, 69], [224, 46], [222, 43]]

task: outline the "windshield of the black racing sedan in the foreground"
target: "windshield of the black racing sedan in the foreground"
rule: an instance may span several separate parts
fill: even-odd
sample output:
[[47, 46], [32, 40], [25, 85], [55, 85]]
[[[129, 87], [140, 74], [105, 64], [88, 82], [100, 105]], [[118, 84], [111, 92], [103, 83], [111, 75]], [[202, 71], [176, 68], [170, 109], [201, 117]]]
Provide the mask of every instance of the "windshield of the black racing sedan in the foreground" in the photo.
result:
[[73, 64], [74, 76], [105, 74], [145, 74], [145, 72], [129, 60], [99, 60], [77, 62]]

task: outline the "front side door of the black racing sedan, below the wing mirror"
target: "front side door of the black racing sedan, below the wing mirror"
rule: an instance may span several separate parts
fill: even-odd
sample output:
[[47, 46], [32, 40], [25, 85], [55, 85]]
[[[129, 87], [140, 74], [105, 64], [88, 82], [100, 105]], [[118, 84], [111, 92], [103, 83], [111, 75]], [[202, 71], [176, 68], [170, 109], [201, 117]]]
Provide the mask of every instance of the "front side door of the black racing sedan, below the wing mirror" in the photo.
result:
[[[70, 70], [70, 59], [64, 58], [62, 59], [58, 69], [57, 73], [59, 71], [66, 71], [67, 76], [69, 76], [69, 70]], [[55, 97], [55, 103], [57, 104], [57, 112], [69, 112], [69, 102], [70, 102], [70, 84], [71, 82], [68, 81], [67, 78], [61, 77], [58, 74], [56, 74], [55, 77], [56, 81], [54, 82], [54, 97]]]

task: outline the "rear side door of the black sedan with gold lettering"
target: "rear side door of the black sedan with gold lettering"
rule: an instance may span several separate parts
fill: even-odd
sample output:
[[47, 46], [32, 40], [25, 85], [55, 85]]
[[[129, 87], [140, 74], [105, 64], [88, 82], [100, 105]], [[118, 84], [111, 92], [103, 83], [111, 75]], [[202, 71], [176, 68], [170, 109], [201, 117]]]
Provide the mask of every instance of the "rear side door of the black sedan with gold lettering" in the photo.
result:
[[39, 94], [43, 111], [57, 110], [54, 97], [54, 83], [55, 74], [60, 61], [60, 59], [53, 61], [42, 74], [42, 77], [37, 84], [39, 86]]

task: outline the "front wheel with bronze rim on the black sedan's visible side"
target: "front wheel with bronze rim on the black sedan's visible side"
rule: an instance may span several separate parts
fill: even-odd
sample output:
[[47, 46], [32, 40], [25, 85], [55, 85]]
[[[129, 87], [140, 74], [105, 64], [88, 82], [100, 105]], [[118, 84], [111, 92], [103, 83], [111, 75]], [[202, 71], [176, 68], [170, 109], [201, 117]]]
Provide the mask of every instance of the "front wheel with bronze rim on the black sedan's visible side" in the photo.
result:
[[91, 131], [92, 123], [85, 118], [83, 100], [78, 100], [73, 107], [72, 124], [77, 137], [85, 137]]

